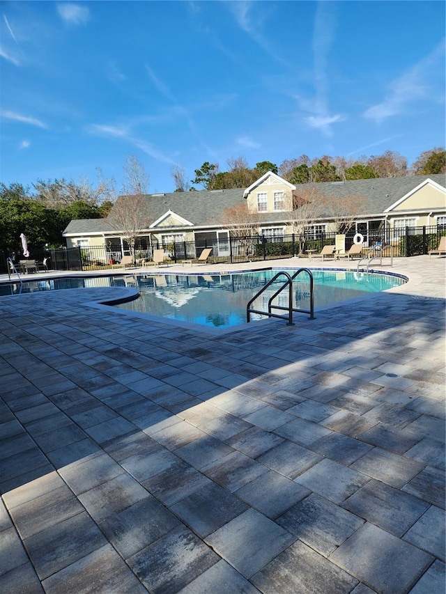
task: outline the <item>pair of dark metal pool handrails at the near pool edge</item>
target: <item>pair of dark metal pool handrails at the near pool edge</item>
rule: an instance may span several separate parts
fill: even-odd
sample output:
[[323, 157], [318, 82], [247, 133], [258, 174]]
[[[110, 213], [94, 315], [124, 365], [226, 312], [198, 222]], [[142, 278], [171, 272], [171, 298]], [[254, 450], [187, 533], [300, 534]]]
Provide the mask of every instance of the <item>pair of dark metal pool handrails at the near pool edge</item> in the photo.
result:
[[[293, 308], [293, 281], [301, 272], [305, 272], [309, 276], [309, 303], [310, 303], [309, 310]], [[253, 309], [252, 304], [254, 303], [254, 301], [258, 297], [260, 297], [260, 295], [262, 295], [263, 291], [265, 291], [268, 287], [270, 287], [272, 285], [272, 283], [277, 281], [277, 279], [279, 279], [281, 276], [284, 276], [286, 280], [284, 281], [282, 286], [275, 292], [275, 294], [272, 295], [272, 297], [270, 297], [270, 299], [268, 299], [268, 311], [261, 311], [258, 309]], [[277, 297], [277, 295], [279, 295], [286, 288], [288, 288], [288, 307], [284, 307], [281, 305], [273, 305], [272, 301]], [[273, 309], [279, 309], [282, 311], [286, 311], [287, 314], [281, 315], [279, 313], [272, 313]], [[314, 318], [314, 281], [313, 281], [312, 272], [308, 268], [298, 269], [298, 271], [296, 271], [293, 274], [293, 276], [291, 276], [291, 274], [289, 274], [288, 272], [283, 272], [283, 271], [277, 272], [277, 274], [275, 274], [275, 276], [273, 276], [272, 279], [270, 279], [270, 281], [268, 281], [268, 283], [266, 283], [266, 285], [261, 288], [261, 290], [256, 292], [256, 295], [254, 295], [254, 297], [252, 297], [252, 299], [248, 302], [248, 304], [246, 306], [246, 320], [247, 320], [247, 322], [251, 321], [252, 313], [260, 313], [261, 315], [268, 315], [268, 318], [279, 318], [281, 320], [288, 320], [287, 326], [294, 326], [293, 313], [309, 313], [309, 320], [314, 320], [315, 319]]]

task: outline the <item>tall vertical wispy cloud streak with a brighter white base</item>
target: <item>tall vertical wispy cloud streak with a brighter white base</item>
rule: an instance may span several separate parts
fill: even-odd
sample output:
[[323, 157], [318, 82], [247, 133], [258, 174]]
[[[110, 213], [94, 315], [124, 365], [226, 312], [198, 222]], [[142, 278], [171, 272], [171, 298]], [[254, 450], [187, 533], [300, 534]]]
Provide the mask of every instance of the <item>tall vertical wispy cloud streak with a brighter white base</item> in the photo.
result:
[[[341, 114], [330, 114], [328, 97], [330, 82], [328, 72], [330, 64], [328, 56], [335, 40], [336, 15], [331, 2], [319, 1], [316, 8], [316, 19], [313, 33], [314, 56], [314, 87], [316, 96], [314, 102], [305, 102], [305, 107], [312, 111], [306, 116], [305, 122], [309, 127], [321, 130], [325, 136], [332, 136], [332, 124], [346, 119]], [[311, 107], [310, 107], [311, 105]]]

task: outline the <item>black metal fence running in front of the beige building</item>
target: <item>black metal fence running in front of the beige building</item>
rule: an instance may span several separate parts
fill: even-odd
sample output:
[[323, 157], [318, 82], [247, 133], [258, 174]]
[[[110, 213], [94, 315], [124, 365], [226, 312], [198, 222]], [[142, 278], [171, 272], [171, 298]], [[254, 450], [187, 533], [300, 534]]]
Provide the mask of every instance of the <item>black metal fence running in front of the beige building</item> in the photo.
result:
[[[259, 260], [275, 260], [291, 258], [291, 256], [307, 256], [307, 251], [318, 253], [325, 245], [336, 243], [337, 233], [320, 233], [299, 235], [282, 235], [266, 237], [263, 235], [247, 237], [229, 237], [226, 240], [203, 240], [201, 242], [175, 242], [169, 244], [153, 243], [148, 249], [138, 245], [130, 247], [124, 244], [110, 244], [96, 247], [74, 247], [64, 249], [30, 249], [29, 259], [43, 263], [47, 259], [47, 267], [52, 270], [100, 270], [119, 267], [123, 256], [132, 256], [135, 265], [144, 265], [153, 261], [153, 250], [164, 250], [166, 263], [181, 262], [198, 258], [201, 251], [211, 247], [211, 263], [243, 263]], [[420, 256], [436, 249], [441, 235], [446, 229], [438, 226], [405, 227], [386, 229], [373, 233], [362, 233], [366, 247], [376, 244], [390, 246], [393, 256]], [[354, 243], [355, 232], [346, 234], [345, 249], [348, 251]], [[24, 257], [20, 253], [0, 252], [0, 272], [8, 273], [8, 256], [16, 264]]]

